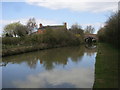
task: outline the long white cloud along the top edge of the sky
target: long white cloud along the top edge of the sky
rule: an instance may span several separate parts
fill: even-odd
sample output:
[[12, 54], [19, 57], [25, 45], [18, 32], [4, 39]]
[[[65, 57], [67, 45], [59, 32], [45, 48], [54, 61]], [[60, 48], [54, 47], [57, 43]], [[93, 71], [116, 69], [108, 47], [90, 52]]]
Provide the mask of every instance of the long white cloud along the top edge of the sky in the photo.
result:
[[118, 9], [118, 0], [26, 0], [26, 3], [53, 10], [70, 9], [72, 11], [104, 12]]

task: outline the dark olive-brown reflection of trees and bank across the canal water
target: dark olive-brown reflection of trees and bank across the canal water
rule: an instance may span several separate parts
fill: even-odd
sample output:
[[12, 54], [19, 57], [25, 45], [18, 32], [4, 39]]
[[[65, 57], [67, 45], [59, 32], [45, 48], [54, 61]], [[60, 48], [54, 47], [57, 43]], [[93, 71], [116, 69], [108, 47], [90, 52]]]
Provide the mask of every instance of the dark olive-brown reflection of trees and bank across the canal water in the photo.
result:
[[89, 50], [84, 46], [81, 47], [64, 47], [64, 48], [54, 48], [30, 53], [24, 53], [21, 55], [9, 56], [3, 58], [5, 63], [26, 63], [30, 68], [36, 68], [38, 61], [40, 64], [50, 70], [54, 68], [55, 64], [62, 64], [63, 66], [67, 64], [68, 58], [71, 58], [73, 62], [78, 62], [81, 60], [84, 51], [88, 54], [94, 53], [95, 50]]

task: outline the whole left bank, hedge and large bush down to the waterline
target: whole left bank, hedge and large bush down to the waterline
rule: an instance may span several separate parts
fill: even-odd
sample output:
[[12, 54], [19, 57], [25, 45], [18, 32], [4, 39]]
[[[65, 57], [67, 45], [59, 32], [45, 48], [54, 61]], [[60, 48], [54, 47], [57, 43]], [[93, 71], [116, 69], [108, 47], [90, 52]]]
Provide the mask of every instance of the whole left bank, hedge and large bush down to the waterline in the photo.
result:
[[25, 37], [3, 37], [2, 57], [49, 48], [78, 46], [82, 43], [82, 35], [67, 30], [47, 30], [43, 34]]

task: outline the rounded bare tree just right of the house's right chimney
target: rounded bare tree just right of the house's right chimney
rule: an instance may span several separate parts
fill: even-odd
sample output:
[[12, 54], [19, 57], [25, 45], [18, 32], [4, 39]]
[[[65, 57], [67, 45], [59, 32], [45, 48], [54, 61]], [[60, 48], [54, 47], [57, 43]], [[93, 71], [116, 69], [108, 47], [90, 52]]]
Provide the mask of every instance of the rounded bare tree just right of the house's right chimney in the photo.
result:
[[83, 35], [83, 30], [81, 29], [81, 26], [78, 24], [73, 24], [70, 29], [71, 32], [75, 34]]

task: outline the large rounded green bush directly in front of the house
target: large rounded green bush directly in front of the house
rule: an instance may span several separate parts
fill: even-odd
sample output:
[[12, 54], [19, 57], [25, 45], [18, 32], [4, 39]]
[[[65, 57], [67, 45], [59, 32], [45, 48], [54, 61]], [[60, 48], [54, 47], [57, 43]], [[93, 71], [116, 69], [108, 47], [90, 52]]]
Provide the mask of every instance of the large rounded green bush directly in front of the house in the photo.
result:
[[73, 45], [80, 43], [80, 39], [67, 30], [46, 30], [43, 39], [44, 43], [51, 45]]

